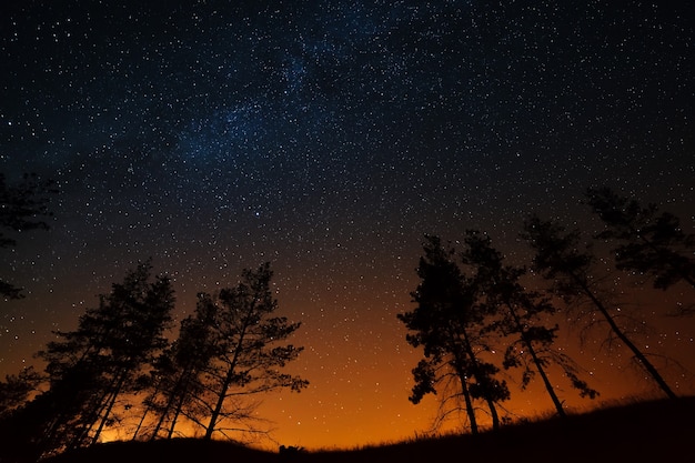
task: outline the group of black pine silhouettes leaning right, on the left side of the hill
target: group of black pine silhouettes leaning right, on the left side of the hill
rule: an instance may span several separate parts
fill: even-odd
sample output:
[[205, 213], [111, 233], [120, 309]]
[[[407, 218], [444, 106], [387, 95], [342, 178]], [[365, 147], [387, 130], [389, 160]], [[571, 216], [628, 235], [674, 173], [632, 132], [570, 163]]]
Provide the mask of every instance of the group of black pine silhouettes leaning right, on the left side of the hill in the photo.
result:
[[263, 433], [252, 396], [308, 385], [282, 372], [302, 351], [284, 343], [300, 323], [274, 314], [269, 263], [244, 270], [233, 288], [200, 293], [171, 343], [174, 292], [151, 270], [138, 265], [77, 330], [56, 332], [38, 353], [42, 374], [27, 369], [0, 383], [0, 460], [89, 446], [113, 427], [133, 440], [178, 436], [183, 422], [204, 439]]

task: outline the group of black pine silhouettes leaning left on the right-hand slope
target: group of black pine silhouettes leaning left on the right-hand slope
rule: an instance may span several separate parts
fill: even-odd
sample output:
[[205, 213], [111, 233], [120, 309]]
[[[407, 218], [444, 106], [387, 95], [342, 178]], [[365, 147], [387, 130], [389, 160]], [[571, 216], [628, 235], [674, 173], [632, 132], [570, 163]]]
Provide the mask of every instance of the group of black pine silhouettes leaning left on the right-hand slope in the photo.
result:
[[[612, 243], [617, 270], [651, 280], [655, 289], [676, 283], [695, 289], [695, 235], [683, 231], [678, 218], [607, 188], [587, 190], [584, 202], [603, 222], [594, 238]], [[560, 416], [565, 411], [550, 378], [552, 365], [580, 395], [595, 397], [598, 392], [581, 378], [578, 365], [553, 349], [556, 301], [563, 303], [563, 316], [575, 324], [587, 318], [590, 324], [607, 324], [608, 340], [620, 341], [663, 394], [676, 399], [649, 356], [618, 323], [617, 308], [602, 291], [597, 258], [580, 230], [531, 215], [520, 239], [533, 252], [528, 266], [507, 264], [491, 238], [476, 230], [465, 231], [461, 249], [426, 236], [417, 268], [421, 283], [412, 293], [416, 308], [397, 315], [410, 330], [407, 342], [424, 354], [413, 369], [410, 400], [419, 403], [424, 395], [439, 393], [440, 419], [463, 410], [471, 431], [477, 433], [477, 403], [486, 409], [493, 427], [500, 426], [497, 409], [511, 396], [501, 379], [503, 370], [520, 369], [523, 389], [540, 378]], [[692, 314], [692, 308], [682, 314]], [[502, 355], [493, 355], [495, 350]]]

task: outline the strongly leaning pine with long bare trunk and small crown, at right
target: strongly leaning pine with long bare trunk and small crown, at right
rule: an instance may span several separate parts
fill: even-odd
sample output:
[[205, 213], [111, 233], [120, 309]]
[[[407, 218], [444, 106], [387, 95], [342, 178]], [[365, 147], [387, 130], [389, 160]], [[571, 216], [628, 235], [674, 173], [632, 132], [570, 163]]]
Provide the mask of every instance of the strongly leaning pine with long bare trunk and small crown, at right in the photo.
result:
[[656, 368], [627, 338], [611, 315], [606, 304], [598, 299], [592, 285], [593, 255], [588, 251], [581, 250], [580, 236], [577, 230], [566, 232], [564, 227], [554, 221], [542, 221], [537, 215], [532, 215], [525, 221], [522, 233], [522, 238], [535, 251], [534, 270], [552, 282], [553, 291], [568, 301], [588, 300], [594, 310], [608, 323], [612, 332], [632, 351], [636, 361], [647, 371], [661, 390], [668, 397], [676, 399], [675, 393]]

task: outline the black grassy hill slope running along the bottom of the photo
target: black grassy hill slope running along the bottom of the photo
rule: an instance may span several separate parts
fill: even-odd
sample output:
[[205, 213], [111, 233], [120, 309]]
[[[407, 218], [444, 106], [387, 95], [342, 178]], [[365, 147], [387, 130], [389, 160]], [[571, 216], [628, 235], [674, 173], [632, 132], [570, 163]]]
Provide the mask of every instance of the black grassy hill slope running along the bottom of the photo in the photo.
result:
[[229, 442], [193, 439], [114, 442], [50, 463], [140, 462], [695, 462], [695, 397], [608, 407], [566, 420], [506, 426], [480, 435], [445, 436], [344, 451], [278, 454]]

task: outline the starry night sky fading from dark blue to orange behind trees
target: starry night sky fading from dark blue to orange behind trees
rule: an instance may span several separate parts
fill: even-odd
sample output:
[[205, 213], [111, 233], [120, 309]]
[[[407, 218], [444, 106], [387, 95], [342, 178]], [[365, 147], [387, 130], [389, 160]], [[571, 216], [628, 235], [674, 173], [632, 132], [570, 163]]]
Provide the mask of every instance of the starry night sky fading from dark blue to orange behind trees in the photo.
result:
[[[485, 230], [524, 264], [525, 214], [591, 233], [580, 200], [602, 185], [695, 231], [693, 6], [624, 3], [3, 1], [0, 171], [61, 193], [50, 231], [0, 250], [27, 288], [0, 302], [0, 375], [138, 261], [173, 278], [178, 320], [270, 261], [311, 381], [265, 399], [275, 439], [426, 430], [436, 402], [407, 401], [421, 353], [395, 318], [423, 234]], [[639, 345], [695, 372], [694, 318], [662, 316], [693, 292], [616, 292], [654, 326]], [[651, 391], [598, 341], [563, 335], [602, 400]], [[665, 375], [695, 393], [692, 373]], [[516, 415], [552, 406], [511, 390]]]

